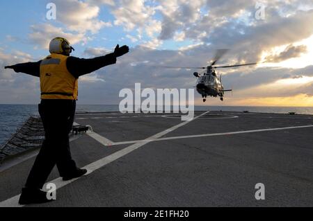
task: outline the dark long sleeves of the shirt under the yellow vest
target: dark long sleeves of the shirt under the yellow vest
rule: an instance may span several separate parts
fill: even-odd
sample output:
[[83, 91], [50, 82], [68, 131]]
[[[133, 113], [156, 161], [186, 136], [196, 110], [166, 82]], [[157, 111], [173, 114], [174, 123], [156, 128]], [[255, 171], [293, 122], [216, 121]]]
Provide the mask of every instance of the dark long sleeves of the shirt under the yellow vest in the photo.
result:
[[[31, 76], [40, 77], [40, 62], [27, 62], [21, 64], [15, 64], [13, 69], [15, 72], [27, 73]], [[79, 76], [83, 76], [85, 74], [91, 73], [93, 71], [97, 71], [102, 67], [105, 67], [110, 64], [116, 63], [116, 57], [113, 53], [108, 55], [104, 55], [97, 58], [76, 58], [76, 57], [68, 57], [66, 61], [67, 70], [70, 71], [72, 76], [75, 78], [79, 78]]]

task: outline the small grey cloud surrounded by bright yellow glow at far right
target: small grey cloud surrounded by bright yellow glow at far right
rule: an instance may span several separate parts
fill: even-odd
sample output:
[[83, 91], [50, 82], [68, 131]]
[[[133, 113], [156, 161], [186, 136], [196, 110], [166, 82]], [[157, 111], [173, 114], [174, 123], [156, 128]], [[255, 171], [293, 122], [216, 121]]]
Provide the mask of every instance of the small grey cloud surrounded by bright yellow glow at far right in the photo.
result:
[[265, 58], [265, 60], [266, 62], [281, 62], [283, 60], [287, 60], [290, 58], [300, 57], [300, 55], [302, 55], [305, 52], [307, 52], [307, 46], [305, 45], [294, 46], [292, 44], [289, 44], [289, 46], [284, 48], [284, 51], [282, 51], [278, 55], [268, 55]]

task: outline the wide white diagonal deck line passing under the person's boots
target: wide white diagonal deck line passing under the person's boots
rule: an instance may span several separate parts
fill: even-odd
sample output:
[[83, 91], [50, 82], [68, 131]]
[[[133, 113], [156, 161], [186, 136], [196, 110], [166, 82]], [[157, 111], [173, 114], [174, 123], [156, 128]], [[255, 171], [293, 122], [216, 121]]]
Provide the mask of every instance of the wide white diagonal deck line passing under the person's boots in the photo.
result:
[[[196, 118], [199, 118], [200, 116], [207, 114], [208, 112], [204, 112], [203, 114], [199, 115], [199, 116], [195, 116], [191, 121], [195, 120]], [[88, 164], [87, 166], [83, 167], [85, 169], [88, 170], [88, 174], [93, 173], [93, 171], [102, 168], [103, 166], [106, 166], [106, 164], [109, 164], [113, 161], [115, 161], [116, 159], [119, 159], [120, 157], [125, 156], [126, 154], [129, 154], [130, 152], [133, 152], [134, 150], [141, 148], [143, 145], [150, 143], [151, 141], [154, 141], [155, 139], [168, 134], [169, 132], [176, 130], [179, 127], [182, 127], [184, 125], [186, 125], [187, 123], [191, 122], [191, 121], [184, 121], [182, 123], [179, 123], [178, 125], [175, 125], [173, 127], [170, 127], [167, 130], [164, 130], [163, 132], [159, 132], [157, 134], [154, 134], [153, 136], [148, 137], [147, 139], [140, 141], [138, 143], [134, 143], [133, 145], [129, 145], [127, 148], [124, 148], [122, 150], [119, 150], [109, 156], [106, 156], [102, 159], [99, 159], [98, 161], [95, 161], [93, 163]], [[80, 177], [79, 177], [80, 178]], [[67, 184], [70, 184], [74, 181], [76, 181], [77, 179], [71, 179], [69, 181], [64, 182], [62, 180], [61, 177], [58, 177], [54, 180], [51, 180], [47, 183], [54, 183], [56, 184], [56, 189], [61, 188], [63, 186], [66, 186]], [[15, 195], [14, 197], [9, 198], [8, 200], [4, 200], [2, 202], [0, 202], [0, 207], [22, 207], [22, 205], [18, 204], [18, 200], [19, 200], [19, 196], [20, 195]]]

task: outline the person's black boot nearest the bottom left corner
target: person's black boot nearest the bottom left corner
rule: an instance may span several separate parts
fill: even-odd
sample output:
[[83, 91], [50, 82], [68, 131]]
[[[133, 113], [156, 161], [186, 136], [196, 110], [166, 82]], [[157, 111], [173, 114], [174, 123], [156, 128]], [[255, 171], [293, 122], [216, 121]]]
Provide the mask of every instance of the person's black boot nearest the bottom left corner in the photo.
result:
[[47, 193], [38, 188], [22, 188], [22, 194], [19, 197], [19, 204], [42, 204], [51, 202], [53, 200], [47, 199]]

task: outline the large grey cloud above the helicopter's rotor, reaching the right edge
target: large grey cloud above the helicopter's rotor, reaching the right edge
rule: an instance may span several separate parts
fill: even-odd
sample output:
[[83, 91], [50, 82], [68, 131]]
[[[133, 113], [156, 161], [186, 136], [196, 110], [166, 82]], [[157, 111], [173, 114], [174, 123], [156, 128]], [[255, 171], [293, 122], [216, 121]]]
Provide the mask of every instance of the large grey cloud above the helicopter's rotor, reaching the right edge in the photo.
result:
[[236, 20], [227, 21], [214, 28], [202, 40], [217, 47], [232, 48], [238, 61], [257, 61], [263, 51], [292, 44], [313, 35], [313, 10], [298, 11], [290, 17], [278, 16], [265, 22], [257, 26], [247, 26]]

